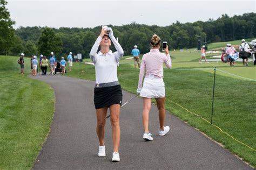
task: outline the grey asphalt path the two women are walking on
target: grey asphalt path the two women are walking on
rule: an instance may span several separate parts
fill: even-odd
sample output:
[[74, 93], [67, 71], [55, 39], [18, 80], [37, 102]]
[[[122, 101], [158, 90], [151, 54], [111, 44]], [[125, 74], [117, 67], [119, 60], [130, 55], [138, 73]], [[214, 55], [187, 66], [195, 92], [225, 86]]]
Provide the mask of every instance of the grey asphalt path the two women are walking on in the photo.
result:
[[[158, 110], [154, 104], [149, 125], [154, 140], [144, 141], [140, 97], [134, 98], [120, 112], [121, 161], [111, 161], [110, 119], [105, 127], [106, 157], [99, 158], [93, 104], [95, 82], [62, 75], [32, 78], [49, 83], [56, 96], [51, 131], [33, 169], [252, 169], [170, 112], [166, 111], [165, 124], [171, 130], [166, 136], [158, 136]], [[123, 103], [133, 96], [123, 91]]]

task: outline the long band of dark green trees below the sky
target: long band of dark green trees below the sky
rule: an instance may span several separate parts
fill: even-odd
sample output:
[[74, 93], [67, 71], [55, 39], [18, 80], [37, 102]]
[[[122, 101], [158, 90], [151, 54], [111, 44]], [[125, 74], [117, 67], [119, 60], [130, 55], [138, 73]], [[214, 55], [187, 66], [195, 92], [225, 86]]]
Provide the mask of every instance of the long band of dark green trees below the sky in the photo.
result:
[[[3, 3], [4, 0], [0, 2]], [[5, 26], [5, 30], [9, 30], [9, 36], [6, 36], [2, 26], [3, 20], [1, 20], [6, 15], [2, 15], [2, 7], [0, 6], [0, 54], [4, 55], [18, 55], [23, 52], [26, 56], [31, 54], [48, 56], [53, 51], [58, 56], [66, 56], [71, 51], [73, 54], [82, 53], [83, 58], [87, 58], [101, 29], [101, 26], [60, 27], [59, 29], [33, 26], [19, 27], [14, 30], [11, 26], [14, 21], [7, 16], [5, 23], [8, 23], [6, 24], [8, 26]], [[153, 33], [163, 41], [167, 41], [170, 49], [197, 47], [198, 36], [201, 37], [202, 42], [207, 43], [253, 38], [256, 37], [256, 13], [244, 13], [233, 17], [225, 14], [216, 20], [208, 19], [207, 22], [180, 23], [177, 21], [169, 26], [137, 23], [108, 26], [112, 27], [114, 36], [118, 37], [125, 55], [129, 55], [134, 45], [138, 46], [141, 53], [148, 52]], [[6, 41], [3, 41], [2, 37]], [[113, 49], [113, 46], [111, 48]]]

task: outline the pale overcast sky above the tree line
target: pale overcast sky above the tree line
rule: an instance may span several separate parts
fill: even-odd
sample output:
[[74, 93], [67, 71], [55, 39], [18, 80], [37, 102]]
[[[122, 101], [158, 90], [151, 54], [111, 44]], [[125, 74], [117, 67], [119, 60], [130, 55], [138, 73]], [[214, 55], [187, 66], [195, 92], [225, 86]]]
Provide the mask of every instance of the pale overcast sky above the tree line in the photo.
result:
[[6, 0], [14, 28], [19, 26], [96, 27], [137, 24], [167, 26], [256, 12], [255, 0]]

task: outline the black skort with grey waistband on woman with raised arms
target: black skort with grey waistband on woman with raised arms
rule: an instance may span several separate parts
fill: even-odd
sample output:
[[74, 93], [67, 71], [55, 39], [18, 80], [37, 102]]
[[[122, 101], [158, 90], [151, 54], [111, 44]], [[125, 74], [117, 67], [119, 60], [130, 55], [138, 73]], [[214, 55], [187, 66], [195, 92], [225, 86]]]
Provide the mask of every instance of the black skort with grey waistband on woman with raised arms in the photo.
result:
[[122, 105], [122, 89], [120, 84], [111, 87], [102, 87], [94, 89], [95, 109], [110, 107], [113, 104]]

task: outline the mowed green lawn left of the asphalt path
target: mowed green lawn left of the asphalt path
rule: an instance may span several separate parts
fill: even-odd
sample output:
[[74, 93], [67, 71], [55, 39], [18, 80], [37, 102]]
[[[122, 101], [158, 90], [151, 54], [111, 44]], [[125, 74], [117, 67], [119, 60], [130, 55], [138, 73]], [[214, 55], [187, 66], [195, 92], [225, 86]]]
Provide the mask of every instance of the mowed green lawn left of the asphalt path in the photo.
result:
[[48, 136], [55, 95], [52, 88], [19, 73], [18, 57], [0, 56], [0, 169], [30, 169]]

